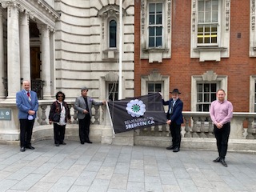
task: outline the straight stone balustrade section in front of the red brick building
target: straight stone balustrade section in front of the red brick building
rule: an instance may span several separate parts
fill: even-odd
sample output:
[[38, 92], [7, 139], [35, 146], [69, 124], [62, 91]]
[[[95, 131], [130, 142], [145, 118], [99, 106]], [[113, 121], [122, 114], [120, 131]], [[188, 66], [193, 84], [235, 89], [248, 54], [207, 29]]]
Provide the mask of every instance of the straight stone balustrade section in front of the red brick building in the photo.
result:
[[[209, 112], [183, 111], [184, 124], [182, 136], [184, 138], [214, 138], [214, 124]], [[254, 139], [256, 138], [256, 126], [254, 124], [256, 113], [234, 112], [231, 120], [230, 138]], [[244, 127], [247, 124], [248, 127]], [[151, 126], [142, 130], [136, 130], [137, 136], [170, 136], [170, 126]]]

